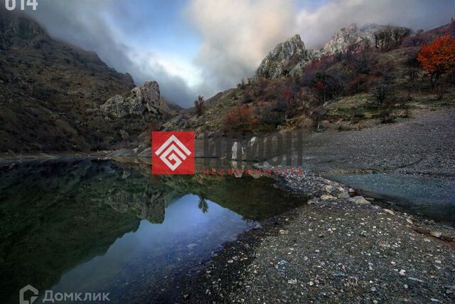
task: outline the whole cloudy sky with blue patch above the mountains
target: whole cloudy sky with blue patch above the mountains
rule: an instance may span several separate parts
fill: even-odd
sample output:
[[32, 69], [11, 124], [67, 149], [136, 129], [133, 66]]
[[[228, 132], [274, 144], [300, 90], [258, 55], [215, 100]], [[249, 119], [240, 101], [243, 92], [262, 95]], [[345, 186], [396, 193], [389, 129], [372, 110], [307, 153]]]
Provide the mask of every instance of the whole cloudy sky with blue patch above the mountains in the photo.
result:
[[252, 76], [296, 33], [321, 48], [350, 23], [426, 30], [455, 17], [455, 0], [38, 0], [28, 14], [137, 85], [158, 81], [161, 95], [188, 108]]

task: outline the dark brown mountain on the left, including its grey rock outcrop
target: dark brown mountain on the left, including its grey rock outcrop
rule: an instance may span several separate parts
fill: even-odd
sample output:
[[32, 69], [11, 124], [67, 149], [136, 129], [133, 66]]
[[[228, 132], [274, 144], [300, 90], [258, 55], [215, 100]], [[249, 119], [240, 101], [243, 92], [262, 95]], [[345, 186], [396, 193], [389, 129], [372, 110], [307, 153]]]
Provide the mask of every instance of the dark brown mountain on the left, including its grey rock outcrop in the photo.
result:
[[[97, 53], [55, 40], [4, 8], [0, 107], [0, 152], [10, 153], [106, 150], [166, 116], [158, 83], [134, 88], [128, 73]], [[116, 107], [124, 112], [116, 115]]]

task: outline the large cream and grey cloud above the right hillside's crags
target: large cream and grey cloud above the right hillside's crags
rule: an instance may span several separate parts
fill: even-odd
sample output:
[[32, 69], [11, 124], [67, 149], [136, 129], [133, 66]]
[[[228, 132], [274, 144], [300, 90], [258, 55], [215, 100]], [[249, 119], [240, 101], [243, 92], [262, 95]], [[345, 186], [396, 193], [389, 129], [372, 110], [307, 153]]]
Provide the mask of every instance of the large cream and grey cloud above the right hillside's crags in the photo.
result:
[[253, 75], [267, 53], [295, 33], [307, 48], [321, 48], [350, 23], [429, 29], [448, 23], [454, 6], [453, 0], [193, 0], [186, 16], [201, 38], [195, 63], [203, 68], [205, 90], [213, 92]]

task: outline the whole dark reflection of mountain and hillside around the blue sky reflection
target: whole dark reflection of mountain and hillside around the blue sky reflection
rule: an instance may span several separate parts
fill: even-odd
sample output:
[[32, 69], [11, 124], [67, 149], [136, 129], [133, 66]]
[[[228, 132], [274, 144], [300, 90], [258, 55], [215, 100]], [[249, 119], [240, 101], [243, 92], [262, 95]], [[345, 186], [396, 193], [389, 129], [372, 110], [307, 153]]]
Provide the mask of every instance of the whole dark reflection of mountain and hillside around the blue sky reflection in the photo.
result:
[[165, 209], [184, 194], [246, 219], [289, 208], [267, 179], [149, 175], [149, 164], [58, 159], [0, 164], [0, 293], [17, 302], [31, 284], [43, 290], [70, 268], [104, 254], [116, 239], [136, 231], [140, 219], [160, 224]]

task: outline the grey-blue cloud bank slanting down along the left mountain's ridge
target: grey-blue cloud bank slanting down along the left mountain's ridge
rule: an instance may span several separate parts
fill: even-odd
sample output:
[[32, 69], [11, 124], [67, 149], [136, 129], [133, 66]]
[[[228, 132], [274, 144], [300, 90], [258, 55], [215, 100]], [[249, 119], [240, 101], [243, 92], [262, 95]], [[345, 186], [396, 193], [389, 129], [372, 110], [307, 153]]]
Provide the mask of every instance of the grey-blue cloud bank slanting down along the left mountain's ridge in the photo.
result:
[[[107, 65], [130, 73], [135, 83], [157, 80], [161, 95], [182, 106], [191, 105], [197, 95], [186, 80], [175, 73], [180, 70], [178, 63], [174, 63], [174, 70], [169, 73], [158, 55], [142, 49], [122, 31], [115, 19], [122, 16], [134, 19], [128, 6], [118, 6], [109, 0], [41, 0], [38, 7], [28, 14], [43, 24], [51, 36], [97, 52]], [[135, 29], [140, 31], [144, 24], [134, 22], [137, 23]]]

